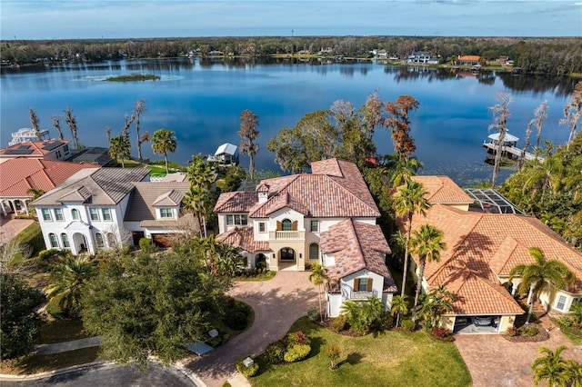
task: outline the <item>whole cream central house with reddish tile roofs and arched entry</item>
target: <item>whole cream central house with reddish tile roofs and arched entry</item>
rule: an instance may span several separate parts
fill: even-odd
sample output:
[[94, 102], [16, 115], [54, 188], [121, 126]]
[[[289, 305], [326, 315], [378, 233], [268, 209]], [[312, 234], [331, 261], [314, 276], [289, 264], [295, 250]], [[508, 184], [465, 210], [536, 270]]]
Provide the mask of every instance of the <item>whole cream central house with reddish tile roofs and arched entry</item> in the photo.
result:
[[303, 271], [325, 264], [330, 315], [347, 299], [376, 295], [389, 305], [396, 292], [385, 264], [390, 249], [356, 164], [329, 159], [311, 170], [263, 180], [253, 192], [222, 193], [216, 239], [241, 248], [247, 267]]

